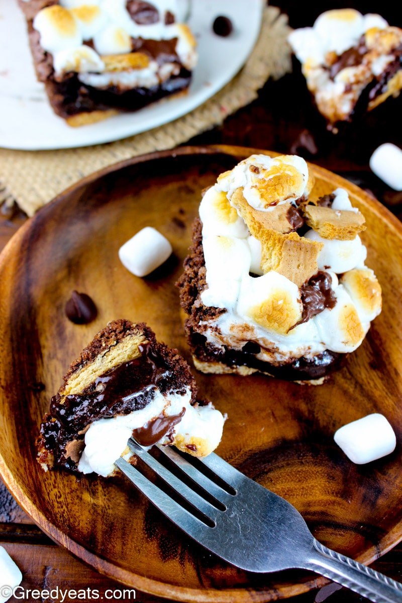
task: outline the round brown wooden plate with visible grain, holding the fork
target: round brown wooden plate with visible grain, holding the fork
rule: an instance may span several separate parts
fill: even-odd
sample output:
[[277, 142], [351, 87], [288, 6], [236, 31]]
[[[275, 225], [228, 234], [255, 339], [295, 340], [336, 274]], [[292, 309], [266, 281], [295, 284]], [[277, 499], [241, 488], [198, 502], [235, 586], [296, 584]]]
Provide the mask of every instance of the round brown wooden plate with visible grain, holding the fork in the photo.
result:
[[[179, 601], [272, 601], [322, 586], [307, 572], [240, 572], [193, 543], [123, 477], [43, 472], [39, 423], [69, 363], [114, 318], [146, 321], [189, 359], [175, 281], [190, 242], [201, 190], [255, 150], [184, 147], [111, 166], [43, 207], [0, 259], [0, 469], [22, 507], [51, 538], [100, 572]], [[311, 166], [315, 192], [346, 188], [366, 216], [369, 267], [383, 287], [383, 312], [364, 343], [328, 384], [303, 387], [263, 376], [196, 373], [201, 396], [228, 420], [218, 452], [281, 494], [327, 546], [369, 563], [402, 538], [402, 228], [379, 203], [325, 169]], [[144, 226], [172, 242], [174, 256], [139, 279], [119, 247]], [[73, 289], [99, 309], [86, 326], [69, 322]], [[40, 385], [45, 388], [40, 391]], [[334, 431], [370, 412], [397, 434], [392, 455], [356, 466]], [[262, 551], [263, 554], [263, 551]]]

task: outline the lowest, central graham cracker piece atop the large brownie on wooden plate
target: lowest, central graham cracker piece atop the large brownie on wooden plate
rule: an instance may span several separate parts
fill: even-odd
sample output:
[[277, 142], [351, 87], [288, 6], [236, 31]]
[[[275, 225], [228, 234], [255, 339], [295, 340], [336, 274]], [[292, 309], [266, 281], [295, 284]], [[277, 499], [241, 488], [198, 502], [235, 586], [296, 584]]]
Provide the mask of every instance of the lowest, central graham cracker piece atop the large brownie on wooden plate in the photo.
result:
[[263, 230], [261, 268], [286, 276], [298, 287], [304, 285], [318, 271], [318, 254], [324, 246], [295, 232], [287, 235], [274, 230]]

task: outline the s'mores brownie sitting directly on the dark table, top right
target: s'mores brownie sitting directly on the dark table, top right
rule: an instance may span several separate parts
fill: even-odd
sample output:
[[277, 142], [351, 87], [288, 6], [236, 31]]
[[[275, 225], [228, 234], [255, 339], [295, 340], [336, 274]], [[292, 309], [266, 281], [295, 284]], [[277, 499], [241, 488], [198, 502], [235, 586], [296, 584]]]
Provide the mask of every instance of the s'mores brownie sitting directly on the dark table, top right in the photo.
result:
[[379, 14], [328, 10], [288, 41], [328, 130], [370, 111], [402, 88], [402, 29]]

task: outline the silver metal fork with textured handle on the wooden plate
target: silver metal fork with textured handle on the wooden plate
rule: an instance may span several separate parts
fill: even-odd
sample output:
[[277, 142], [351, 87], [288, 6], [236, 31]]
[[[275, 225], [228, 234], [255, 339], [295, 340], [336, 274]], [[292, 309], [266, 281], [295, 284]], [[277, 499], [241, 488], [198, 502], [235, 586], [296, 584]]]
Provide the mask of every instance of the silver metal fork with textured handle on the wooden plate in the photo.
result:
[[175, 525], [228, 563], [249, 572], [312, 570], [371, 601], [402, 603], [400, 582], [319, 543], [287, 500], [215, 453], [194, 460], [170, 446], [160, 447], [180, 469], [175, 473], [190, 478], [189, 487], [132, 438], [128, 446], [180, 496], [170, 496], [122, 458], [116, 466]]

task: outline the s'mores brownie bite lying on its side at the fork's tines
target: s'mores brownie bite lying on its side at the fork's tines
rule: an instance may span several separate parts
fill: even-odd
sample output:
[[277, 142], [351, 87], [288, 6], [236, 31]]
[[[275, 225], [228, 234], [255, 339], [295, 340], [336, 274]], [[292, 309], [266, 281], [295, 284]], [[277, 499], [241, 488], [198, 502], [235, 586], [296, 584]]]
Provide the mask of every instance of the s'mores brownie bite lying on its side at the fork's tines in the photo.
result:
[[127, 441], [174, 445], [193, 456], [218, 446], [224, 416], [197, 399], [190, 367], [145, 323], [119, 319], [99, 331], [71, 364], [37, 439], [45, 471], [115, 473]]

